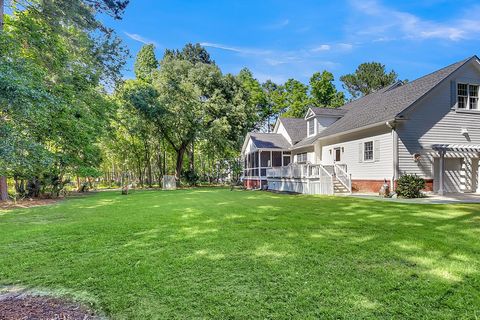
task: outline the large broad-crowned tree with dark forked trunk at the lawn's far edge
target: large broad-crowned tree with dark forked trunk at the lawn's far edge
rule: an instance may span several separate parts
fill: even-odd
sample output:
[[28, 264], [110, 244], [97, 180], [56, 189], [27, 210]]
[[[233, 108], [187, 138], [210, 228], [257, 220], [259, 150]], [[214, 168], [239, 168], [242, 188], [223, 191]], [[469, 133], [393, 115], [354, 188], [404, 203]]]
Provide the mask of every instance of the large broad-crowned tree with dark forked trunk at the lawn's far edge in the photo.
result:
[[176, 153], [177, 180], [195, 139], [236, 144], [255, 123], [255, 109], [241, 83], [214, 64], [167, 54], [153, 83], [159, 103], [152, 104], [149, 114]]

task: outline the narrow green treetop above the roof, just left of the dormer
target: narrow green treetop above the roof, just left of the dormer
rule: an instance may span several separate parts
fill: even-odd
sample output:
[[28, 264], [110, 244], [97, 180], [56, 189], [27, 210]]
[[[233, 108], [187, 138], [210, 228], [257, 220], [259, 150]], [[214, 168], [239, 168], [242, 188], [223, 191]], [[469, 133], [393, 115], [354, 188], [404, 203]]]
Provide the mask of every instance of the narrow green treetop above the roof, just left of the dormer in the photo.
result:
[[285, 82], [285, 97], [288, 106], [285, 117], [302, 118], [310, 105], [308, 86], [295, 79]]

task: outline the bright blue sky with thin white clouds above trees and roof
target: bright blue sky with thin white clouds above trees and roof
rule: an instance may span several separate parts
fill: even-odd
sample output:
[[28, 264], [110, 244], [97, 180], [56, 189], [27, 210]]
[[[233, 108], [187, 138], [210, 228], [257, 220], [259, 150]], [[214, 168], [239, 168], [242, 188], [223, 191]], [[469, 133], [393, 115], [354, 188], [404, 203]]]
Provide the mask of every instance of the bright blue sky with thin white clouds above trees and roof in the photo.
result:
[[[279, 83], [322, 70], [338, 79], [366, 61], [413, 80], [480, 51], [480, 4], [469, 0], [131, 0], [123, 20], [107, 24], [132, 56], [144, 43], [161, 58], [198, 42], [223, 72], [248, 67]], [[132, 68], [133, 58], [126, 78]]]

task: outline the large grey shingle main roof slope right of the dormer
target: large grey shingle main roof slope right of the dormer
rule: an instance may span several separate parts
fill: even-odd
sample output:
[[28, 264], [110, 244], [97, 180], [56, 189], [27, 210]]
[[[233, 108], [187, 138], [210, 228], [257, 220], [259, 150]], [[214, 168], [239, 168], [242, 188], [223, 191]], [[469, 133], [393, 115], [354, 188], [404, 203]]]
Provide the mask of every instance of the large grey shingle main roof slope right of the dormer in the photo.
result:
[[[347, 103], [341, 110], [348, 111], [342, 118], [323, 130], [319, 137], [359, 129], [382, 121], [392, 120], [415, 101], [437, 86], [471, 57], [405, 84], [396, 83], [360, 99]], [[338, 110], [338, 109], [336, 109]]]

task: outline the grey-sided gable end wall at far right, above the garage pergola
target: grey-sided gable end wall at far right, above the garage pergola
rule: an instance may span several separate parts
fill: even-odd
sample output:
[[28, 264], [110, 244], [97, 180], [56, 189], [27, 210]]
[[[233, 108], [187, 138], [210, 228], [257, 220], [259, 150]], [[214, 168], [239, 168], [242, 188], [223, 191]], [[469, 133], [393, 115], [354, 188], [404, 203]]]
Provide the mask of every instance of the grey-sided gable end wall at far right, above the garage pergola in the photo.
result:
[[[408, 173], [435, 179], [438, 175], [434, 170], [438, 154], [432, 151], [433, 144], [480, 144], [480, 112], [455, 110], [456, 81], [480, 83], [478, 67], [472, 63], [452, 74], [417, 102], [406, 114], [406, 120], [397, 125], [399, 175]], [[463, 128], [468, 130], [468, 136], [461, 133]], [[417, 162], [413, 159], [416, 153], [420, 154]], [[447, 153], [446, 157], [465, 157], [470, 163], [478, 155]], [[447, 174], [446, 179], [450, 178], [454, 179]]]

